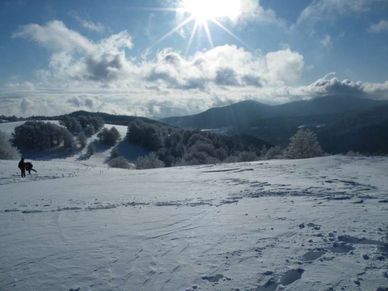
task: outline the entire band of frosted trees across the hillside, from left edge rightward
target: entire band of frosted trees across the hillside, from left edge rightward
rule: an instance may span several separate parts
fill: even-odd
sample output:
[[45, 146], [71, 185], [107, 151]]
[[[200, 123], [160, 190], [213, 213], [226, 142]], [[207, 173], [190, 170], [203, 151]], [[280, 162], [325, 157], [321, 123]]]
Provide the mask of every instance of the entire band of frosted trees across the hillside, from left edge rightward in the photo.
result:
[[[64, 116], [61, 126], [50, 122], [27, 121], [15, 128], [12, 145], [0, 132], [0, 159], [19, 156], [18, 149], [47, 150], [63, 147], [72, 150], [86, 146], [86, 136], [98, 132], [98, 140], [114, 146], [120, 139], [118, 130], [104, 128], [98, 116]], [[74, 134], [74, 135], [73, 135]], [[249, 135], [225, 136], [199, 129], [180, 129], [161, 123], [147, 123], [136, 119], [129, 123], [126, 139], [150, 151], [133, 161], [137, 168], [158, 168], [178, 165], [198, 165], [221, 162], [250, 162], [271, 159], [304, 159], [322, 156], [317, 136], [309, 129], [301, 129], [290, 139], [285, 149], [272, 146]], [[96, 151], [89, 143], [87, 155]], [[109, 161], [112, 167], [129, 167], [129, 161], [113, 147]]]

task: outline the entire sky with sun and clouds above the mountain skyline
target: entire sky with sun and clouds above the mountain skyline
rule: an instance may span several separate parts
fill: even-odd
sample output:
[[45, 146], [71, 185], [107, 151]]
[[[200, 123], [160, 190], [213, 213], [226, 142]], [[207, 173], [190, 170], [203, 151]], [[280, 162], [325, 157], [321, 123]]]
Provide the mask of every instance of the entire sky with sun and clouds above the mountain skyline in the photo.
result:
[[388, 98], [386, 0], [3, 0], [0, 25], [5, 115]]

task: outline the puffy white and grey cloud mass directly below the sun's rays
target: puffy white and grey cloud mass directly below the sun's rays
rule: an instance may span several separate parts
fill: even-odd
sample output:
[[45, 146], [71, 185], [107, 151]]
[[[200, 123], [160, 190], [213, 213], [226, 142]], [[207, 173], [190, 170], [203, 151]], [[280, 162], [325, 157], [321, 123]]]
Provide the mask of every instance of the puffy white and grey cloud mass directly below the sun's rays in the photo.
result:
[[261, 55], [225, 45], [188, 58], [164, 49], [140, 70], [146, 81], [165, 88], [209, 90], [293, 82], [301, 76], [303, 66], [303, 56], [290, 49]]

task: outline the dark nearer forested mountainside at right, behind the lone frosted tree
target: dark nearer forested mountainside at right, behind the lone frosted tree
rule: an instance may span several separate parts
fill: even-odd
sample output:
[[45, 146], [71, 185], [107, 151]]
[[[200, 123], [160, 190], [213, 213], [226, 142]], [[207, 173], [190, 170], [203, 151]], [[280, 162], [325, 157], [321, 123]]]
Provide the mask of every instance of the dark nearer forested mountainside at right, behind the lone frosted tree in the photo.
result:
[[344, 113], [262, 118], [248, 126], [233, 127], [227, 134], [250, 134], [286, 147], [301, 128], [315, 131], [328, 153], [388, 153], [388, 105]]

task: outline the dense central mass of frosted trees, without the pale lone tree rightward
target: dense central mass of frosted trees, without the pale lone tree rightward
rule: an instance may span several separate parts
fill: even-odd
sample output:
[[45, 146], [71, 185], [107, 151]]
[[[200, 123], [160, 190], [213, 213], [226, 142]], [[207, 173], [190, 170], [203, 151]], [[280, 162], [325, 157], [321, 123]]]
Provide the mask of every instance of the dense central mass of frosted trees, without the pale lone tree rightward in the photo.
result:
[[[170, 167], [256, 161], [259, 159], [260, 148], [268, 145], [251, 136], [223, 136], [199, 129], [179, 129], [142, 120], [129, 123], [127, 140], [153, 152], [152, 156], [142, 157], [136, 162], [141, 168], [149, 168], [149, 165], [161, 167], [162, 163]], [[155, 161], [155, 158], [162, 163]]]

